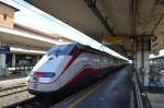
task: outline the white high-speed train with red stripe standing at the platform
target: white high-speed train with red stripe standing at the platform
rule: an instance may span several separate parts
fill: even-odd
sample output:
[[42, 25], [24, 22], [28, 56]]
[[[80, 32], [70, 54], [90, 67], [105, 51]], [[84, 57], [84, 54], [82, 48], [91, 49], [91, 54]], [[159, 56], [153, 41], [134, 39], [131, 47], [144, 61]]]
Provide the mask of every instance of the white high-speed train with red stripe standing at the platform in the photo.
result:
[[31, 94], [55, 94], [103, 77], [125, 60], [77, 43], [52, 47], [27, 76]]

